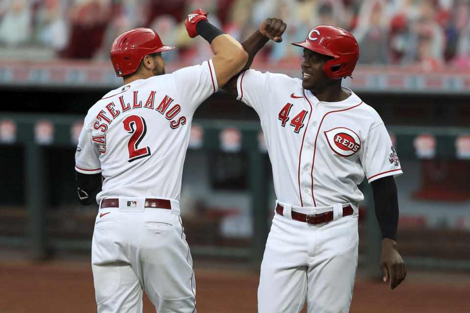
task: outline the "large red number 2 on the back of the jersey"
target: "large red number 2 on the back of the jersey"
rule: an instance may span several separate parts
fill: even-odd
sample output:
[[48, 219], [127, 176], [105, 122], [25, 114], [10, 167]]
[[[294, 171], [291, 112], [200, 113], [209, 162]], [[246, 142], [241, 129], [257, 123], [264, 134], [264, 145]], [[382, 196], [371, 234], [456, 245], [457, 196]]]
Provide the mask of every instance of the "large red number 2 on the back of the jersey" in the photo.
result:
[[127, 148], [129, 149], [129, 159], [128, 162], [135, 161], [141, 157], [150, 156], [150, 148], [137, 148], [141, 143], [143, 136], [147, 133], [147, 125], [145, 120], [141, 116], [131, 115], [126, 117], [123, 121], [124, 130], [129, 134], [132, 134], [129, 142], [127, 143]]

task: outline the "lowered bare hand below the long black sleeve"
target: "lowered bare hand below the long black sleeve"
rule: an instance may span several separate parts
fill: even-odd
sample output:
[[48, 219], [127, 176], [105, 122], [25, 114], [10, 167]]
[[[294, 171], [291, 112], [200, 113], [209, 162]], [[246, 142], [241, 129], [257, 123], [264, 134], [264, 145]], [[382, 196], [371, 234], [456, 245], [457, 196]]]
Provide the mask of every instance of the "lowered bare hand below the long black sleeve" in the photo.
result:
[[382, 255], [380, 268], [383, 281], [390, 282], [390, 289], [395, 289], [406, 276], [406, 268], [400, 253], [397, 251], [397, 242], [390, 238], [382, 240]]

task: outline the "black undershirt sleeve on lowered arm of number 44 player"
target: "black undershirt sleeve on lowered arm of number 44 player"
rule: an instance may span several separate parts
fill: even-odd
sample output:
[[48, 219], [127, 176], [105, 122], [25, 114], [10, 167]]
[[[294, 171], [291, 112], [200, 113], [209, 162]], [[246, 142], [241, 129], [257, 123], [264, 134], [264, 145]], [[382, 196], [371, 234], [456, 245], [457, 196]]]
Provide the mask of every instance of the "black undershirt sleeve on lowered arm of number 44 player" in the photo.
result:
[[382, 239], [397, 240], [398, 193], [393, 176], [383, 177], [371, 182], [377, 222], [382, 231]]

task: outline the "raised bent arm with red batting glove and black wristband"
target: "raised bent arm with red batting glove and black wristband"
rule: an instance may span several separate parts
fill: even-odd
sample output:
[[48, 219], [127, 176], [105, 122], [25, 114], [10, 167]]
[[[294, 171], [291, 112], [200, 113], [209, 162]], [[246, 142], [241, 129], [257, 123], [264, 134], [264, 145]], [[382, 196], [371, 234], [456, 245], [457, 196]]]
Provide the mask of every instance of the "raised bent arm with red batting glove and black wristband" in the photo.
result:
[[185, 25], [189, 37], [200, 35], [211, 44], [214, 52], [212, 64], [219, 88], [245, 66], [248, 54], [243, 47], [232, 36], [212, 25], [204, 10], [198, 9], [189, 14]]

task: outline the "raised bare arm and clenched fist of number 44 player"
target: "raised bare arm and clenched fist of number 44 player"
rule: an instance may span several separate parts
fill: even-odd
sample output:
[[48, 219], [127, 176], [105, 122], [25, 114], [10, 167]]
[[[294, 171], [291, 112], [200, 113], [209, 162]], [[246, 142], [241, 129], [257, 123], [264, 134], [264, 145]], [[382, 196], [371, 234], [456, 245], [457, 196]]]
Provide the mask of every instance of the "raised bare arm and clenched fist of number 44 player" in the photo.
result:
[[[284, 33], [286, 28], [286, 23], [284, 23], [281, 19], [276, 18], [267, 18], [265, 21], [261, 23], [259, 29], [253, 33], [247, 40], [245, 40], [241, 45], [248, 53], [248, 61], [246, 62], [245, 66], [240, 70], [244, 71], [250, 68], [255, 55], [258, 51], [266, 45], [266, 43], [271, 39], [277, 43], [282, 42], [282, 34]], [[224, 90], [231, 93], [236, 97], [236, 80], [238, 78], [238, 73], [234, 77], [232, 77], [227, 84], [224, 86]]]

